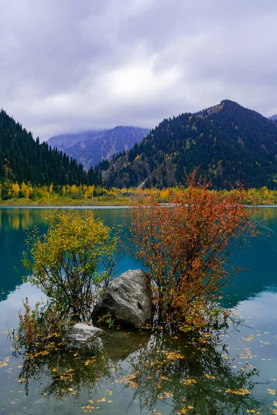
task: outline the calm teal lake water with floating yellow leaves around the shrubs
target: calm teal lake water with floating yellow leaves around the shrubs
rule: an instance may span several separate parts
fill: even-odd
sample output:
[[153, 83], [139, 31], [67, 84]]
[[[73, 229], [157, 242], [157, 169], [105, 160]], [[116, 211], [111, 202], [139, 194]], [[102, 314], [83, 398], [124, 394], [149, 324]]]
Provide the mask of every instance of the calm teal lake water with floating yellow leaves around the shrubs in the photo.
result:
[[[260, 210], [270, 235], [235, 253], [248, 268], [226, 288], [224, 306], [244, 319], [203, 342], [192, 335], [116, 330], [102, 350], [57, 350], [30, 360], [14, 356], [22, 299], [42, 297], [19, 273], [25, 229], [46, 230], [49, 210], [0, 210], [1, 414], [277, 414], [277, 209]], [[127, 224], [127, 209], [96, 210], [105, 223]], [[267, 233], [267, 232], [265, 232]], [[140, 268], [132, 256], [118, 273]], [[58, 349], [58, 348], [57, 348]]]

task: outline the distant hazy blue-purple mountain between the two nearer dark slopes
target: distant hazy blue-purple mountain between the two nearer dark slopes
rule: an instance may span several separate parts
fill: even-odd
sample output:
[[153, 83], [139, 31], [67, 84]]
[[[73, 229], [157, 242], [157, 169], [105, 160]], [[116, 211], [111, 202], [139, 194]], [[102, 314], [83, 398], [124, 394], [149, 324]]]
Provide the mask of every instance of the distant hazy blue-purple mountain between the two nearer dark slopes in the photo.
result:
[[149, 132], [150, 129], [118, 126], [103, 131], [63, 134], [51, 137], [47, 142], [75, 158], [88, 170], [103, 159], [109, 160], [114, 154], [128, 151]]

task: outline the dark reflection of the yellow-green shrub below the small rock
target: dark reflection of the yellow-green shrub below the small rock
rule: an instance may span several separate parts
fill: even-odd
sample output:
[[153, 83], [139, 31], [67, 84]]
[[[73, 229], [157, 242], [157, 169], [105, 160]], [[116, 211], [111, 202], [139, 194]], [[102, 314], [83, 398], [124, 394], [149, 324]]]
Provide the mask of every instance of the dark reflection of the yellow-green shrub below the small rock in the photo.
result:
[[103, 351], [100, 340], [78, 348], [66, 343], [52, 343], [51, 346], [24, 353], [19, 382], [24, 384], [26, 394], [30, 380], [43, 382], [46, 378], [41, 394], [62, 400], [66, 396], [78, 396], [84, 389], [97, 387], [100, 380], [105, 382], [120, 376], [115, 370], [116, 365], [111, 365], [109, 356]]

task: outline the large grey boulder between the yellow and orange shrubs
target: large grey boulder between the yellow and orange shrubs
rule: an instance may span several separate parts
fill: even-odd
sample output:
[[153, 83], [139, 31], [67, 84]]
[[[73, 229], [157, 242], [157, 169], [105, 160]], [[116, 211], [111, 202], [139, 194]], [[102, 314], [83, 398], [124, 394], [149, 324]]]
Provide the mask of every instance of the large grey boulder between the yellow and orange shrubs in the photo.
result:
[[128, 270], [115, 278], [93, 313], [95, 317], [111, 313], [117, 323], [143, 326], [152, 316], [148, 275], [143, 270]]

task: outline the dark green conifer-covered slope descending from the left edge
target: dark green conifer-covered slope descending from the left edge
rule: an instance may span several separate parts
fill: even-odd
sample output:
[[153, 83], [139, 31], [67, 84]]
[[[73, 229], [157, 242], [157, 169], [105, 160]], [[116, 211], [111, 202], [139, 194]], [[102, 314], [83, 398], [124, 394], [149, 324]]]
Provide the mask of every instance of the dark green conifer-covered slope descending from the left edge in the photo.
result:
[[82, 165], [51, 149], [46, 142], [39, 144], [32, 133], [0, 112], [0, 182], [28, 182], [40, 185], [100, 184], [99, 174], [84, 172]]

